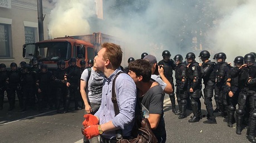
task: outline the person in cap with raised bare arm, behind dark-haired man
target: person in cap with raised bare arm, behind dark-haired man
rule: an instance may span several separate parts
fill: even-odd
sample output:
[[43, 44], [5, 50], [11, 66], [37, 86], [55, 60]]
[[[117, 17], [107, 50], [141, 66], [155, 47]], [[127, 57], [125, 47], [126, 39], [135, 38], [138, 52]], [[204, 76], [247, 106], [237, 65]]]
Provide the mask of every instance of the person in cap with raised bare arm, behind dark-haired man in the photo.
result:
[[143, 59], [148, 60], [151, 65], [151, 79], [161, 85], [164, 93], [173, 93], [173, 86], [171, 86], [171, 83], [165, 77], [164, 68], [161, 65], [157, 65], [156, 57], [154, 55], [146, 55]]

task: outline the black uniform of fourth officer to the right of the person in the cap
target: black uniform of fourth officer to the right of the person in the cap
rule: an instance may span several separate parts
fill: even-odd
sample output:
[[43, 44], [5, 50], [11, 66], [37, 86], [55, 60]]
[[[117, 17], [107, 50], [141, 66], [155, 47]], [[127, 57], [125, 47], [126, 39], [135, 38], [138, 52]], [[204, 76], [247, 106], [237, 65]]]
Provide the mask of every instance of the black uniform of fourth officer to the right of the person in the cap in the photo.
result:
[[208, 112], [208, 118], [215, 119], [215, 115], [213, 114], [213, 104], [211, 103], [215, 85], [214, 63], [210, 60], [203, 63], [201, 65], [201, 74], [202, 78], [204, 79], [204, 104]]

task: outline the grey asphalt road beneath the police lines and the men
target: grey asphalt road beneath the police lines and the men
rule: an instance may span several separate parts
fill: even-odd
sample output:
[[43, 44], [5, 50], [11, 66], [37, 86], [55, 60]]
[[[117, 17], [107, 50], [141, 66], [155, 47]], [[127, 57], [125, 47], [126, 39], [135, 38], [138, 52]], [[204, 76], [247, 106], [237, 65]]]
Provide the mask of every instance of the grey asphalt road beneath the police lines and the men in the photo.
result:
[[[249, 142], [246, 129], [242, 135], [235, 134], [234, 127], [228, 127], [223, 118], [216, 118], [218, 124], [203, 124], [206, 118], [199, 122], [189, 123], [188, 118], [178, 119], [179, 115], [171, 112], [170, 99], [165, 96], [165, 127], [166, 142]], [[206, 114], [203, 99], [202, 112]], [[178, 105], [176, 106], [178, 108]], [[46, 110], [39, 114], [29, 109], [26, 113], [18, 113], [19, 108], [7, 111], [8, 103], [0, 111], [0, 142], [82, 142], [81, 127], [83, 110], [71, 111], [67, 114], [56, 114], [56, 111]]]

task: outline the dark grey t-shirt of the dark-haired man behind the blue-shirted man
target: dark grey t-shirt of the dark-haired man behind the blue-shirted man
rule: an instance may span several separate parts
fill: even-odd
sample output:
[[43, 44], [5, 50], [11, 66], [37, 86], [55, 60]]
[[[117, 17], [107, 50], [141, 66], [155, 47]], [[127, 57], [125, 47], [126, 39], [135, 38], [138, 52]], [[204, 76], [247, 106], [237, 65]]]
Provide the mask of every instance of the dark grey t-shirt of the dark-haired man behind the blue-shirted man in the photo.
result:
[[139, 98], [140, 102], [149, 110], [149, 114], [161, 114], [160, 121], [155, 130], [152, 130], [157, 138], [165, 135], [164, 122], [164, 91], [160, 85], [150, 88], [144, 96]]

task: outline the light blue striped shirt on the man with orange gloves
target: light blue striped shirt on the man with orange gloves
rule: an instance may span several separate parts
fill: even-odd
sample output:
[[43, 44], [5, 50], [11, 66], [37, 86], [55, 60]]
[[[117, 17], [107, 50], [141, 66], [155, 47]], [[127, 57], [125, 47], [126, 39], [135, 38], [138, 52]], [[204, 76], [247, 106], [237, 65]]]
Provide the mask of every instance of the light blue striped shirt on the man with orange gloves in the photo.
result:
[[[101, 106], [97, 113], [95, 113], [95, 116], [100, 119], [100, 124], [112, 121], [116, 127], [122, 129], [123, 136], [130, 136], [135, 118], [136, 85], [128, 74], [122, 73], [117, 76], [115, 91], [120, 113], [115, 116], [114, 105], [111, 100], [111, 90], [113, 80], [119, 72], [121, 72], [121, 68], [116, 69], [109, 78], [105, 77], [102, 88]], [[106, 139], [112, 139], [116, 136], [116, 132], [104, 132], [102, 136]]]

